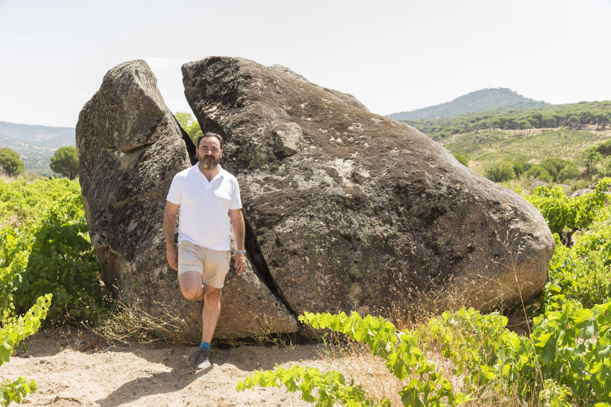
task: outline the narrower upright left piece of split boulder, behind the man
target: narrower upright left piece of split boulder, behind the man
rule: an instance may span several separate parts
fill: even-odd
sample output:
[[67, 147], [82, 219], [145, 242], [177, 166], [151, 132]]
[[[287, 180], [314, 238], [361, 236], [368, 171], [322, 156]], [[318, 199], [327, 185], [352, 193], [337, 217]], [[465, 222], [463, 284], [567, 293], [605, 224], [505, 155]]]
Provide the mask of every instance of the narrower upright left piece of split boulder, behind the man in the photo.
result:
[[[199, 308], [183, 300], [166, 262], [163, 213], [174, 175], [191, 165], [194, 146], [181, 131], [142, 60], [104, 76], [76, 125], [80, 182], [102, 278], [119, 300], [151, 315], [165, 309], [200, 336]], [[191, 154], [188, 154], [188, 149]], [[295, 317], [251, 264], [225, 281], [216, 337], [294, 332]]]

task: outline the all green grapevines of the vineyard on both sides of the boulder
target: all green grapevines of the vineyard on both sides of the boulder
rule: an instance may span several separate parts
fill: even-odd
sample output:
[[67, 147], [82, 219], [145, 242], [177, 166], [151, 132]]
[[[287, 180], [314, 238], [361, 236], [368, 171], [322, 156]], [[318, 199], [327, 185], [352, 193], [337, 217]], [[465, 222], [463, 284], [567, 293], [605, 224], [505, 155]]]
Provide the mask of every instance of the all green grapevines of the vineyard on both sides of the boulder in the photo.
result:
[[[262, 370], [238, 389], [284, 386], [316, 406], [609, 406], [610, 184], [602, 179], [576, 198], [560, 187], [538, 187], [525, 196], [557, 244], [543, 294], [518, 310], [531, 322], [529, 333], [509, 330], [499, 312], [466, 308], [401, 330], [356, 312], [304, 314], [302, 323], [363, 344], [382, 361], [398, 384], [394, 397], [376, 398], [362, 380], [301, 366]], [[0, 242], [0, 364], [40, 326], [95, 326], [113, 312], [98, 279], [101, 265], [78, 183], [0, 180]], [[2, 405], [36, 390], [23, 377], [0, 386]]]

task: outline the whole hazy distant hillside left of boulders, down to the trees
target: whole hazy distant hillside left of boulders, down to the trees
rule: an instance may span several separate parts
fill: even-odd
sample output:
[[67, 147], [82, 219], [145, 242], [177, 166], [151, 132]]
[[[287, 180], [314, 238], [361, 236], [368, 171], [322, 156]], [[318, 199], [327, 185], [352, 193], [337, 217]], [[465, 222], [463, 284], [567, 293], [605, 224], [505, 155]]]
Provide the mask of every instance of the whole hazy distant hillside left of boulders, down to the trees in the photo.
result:
[[0, 121], [0, 148], [19, 154], [28, 171], [51, 175], [49, 159], [63, 146], [76, 146], [74, 128]]

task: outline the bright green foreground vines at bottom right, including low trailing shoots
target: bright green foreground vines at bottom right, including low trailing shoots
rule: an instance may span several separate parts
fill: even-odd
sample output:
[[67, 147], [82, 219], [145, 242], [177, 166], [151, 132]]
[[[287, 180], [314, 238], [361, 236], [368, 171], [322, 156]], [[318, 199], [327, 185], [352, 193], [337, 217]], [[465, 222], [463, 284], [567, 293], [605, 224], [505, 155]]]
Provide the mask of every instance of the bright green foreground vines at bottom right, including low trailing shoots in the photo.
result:
[[[472, 308], [444, 312], [417, 331], [400, 333], [381, 317], [356, 312], [349, 317], [306, 312], [299, 320], [367, 344], [405, 384], [399, 392], [404, 406], [456, 406], [485, 397], [492, 389], [557, 406], [568, 405], [567, 400], [579, 405], [611, 402], [611, 303], [592, 308], [565, 303], [559, 311], [536, 317], [529, 337], [508, 330], [502, 315], [482, 315]], [[447, 362], [427, 357], [433, 345], [441, 346], [442, 356], [452, 362], [454, 381], [441, 370]], [[257, 372], [236, 388], [284, 385], [291, 392], [301, 390], [301, 397], [316, 406], [390, 403], [368, 400], [360, 386], [345, 383], [342, 373], [293, 366]]]

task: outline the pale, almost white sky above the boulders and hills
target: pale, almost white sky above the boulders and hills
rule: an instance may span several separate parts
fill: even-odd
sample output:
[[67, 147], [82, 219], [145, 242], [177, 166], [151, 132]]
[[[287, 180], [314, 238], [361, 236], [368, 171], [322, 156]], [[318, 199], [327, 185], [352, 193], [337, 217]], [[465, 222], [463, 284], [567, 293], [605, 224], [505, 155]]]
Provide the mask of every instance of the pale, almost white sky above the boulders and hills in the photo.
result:
[[0, 121], [76, 125], [106, 71], [144, 59], [172, 112], [180, 66], [279, 63], [386, 115], [508, 87], [611, 99], [611, 0], [0, 0]]

